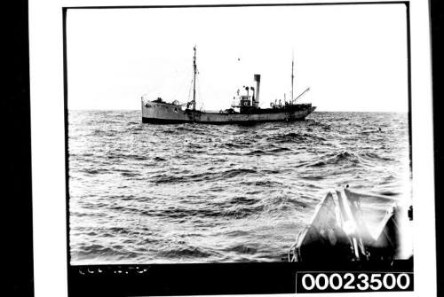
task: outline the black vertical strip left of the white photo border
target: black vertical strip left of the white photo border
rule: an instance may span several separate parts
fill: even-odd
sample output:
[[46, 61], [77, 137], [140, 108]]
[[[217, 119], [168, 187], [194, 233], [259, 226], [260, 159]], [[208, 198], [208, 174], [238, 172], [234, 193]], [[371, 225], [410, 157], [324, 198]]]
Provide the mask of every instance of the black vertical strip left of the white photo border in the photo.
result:
[[3, 208], [12, 228], [4, 228], [8, 257], [4, 273], [4, 291], [12, 296], [34, 295], [33, 217], [31, 178], [31, 117], [29, 90], [28, 1], [14, 1], [8, 5], [7, 27], [4, 27], [6, 51], [4, 96], [2, 111], [5, 155], [2, 162], [5, 180], [2, 181]]

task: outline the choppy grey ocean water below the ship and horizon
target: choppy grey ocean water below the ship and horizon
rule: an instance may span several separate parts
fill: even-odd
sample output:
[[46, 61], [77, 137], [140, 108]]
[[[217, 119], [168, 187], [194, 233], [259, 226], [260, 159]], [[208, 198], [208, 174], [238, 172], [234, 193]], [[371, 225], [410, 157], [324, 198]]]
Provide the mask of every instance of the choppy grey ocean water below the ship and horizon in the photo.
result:
[[[72, 264], [281, 262], [328, 191], [411, 199], [407, 113], [252, 126], [70, 111]], [[364, 201], [369, 224], [386, 202]]]

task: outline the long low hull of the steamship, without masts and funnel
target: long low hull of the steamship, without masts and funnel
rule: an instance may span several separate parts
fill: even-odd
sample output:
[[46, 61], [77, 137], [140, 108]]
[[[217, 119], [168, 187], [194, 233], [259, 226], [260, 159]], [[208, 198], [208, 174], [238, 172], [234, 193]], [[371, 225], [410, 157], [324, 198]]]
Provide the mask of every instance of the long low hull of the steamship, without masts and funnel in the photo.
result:
[[206, 123], [206, 124], [249, 124], [268, 121], [303, 121], [316, 107], [302, 110], [280, 111], [263, 109], [258, 113], [206, 113], [182, 110], [180, 106], [167, 103], [142, 102], [142, 122], [153, 124]]

